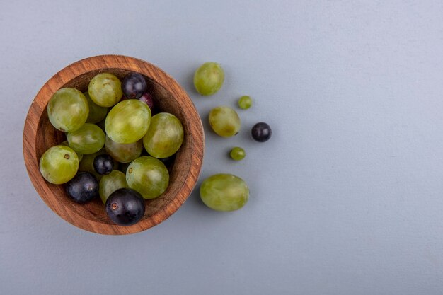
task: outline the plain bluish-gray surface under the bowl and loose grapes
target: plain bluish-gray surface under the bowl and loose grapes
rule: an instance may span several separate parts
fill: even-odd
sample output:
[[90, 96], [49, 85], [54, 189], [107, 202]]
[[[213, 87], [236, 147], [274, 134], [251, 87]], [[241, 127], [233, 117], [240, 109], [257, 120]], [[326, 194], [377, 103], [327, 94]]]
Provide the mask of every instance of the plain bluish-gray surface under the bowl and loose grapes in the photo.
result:
[[[0, 294], [442, 294], [442, 14], [442, 1], [1, 1]], [[197, 184], [241, 176], [246, 207], [214, 212], [195, 190], [153, 229], [100, 236], [42, 202], [26, 112], [98, 54], [160, 66], [204, 122], [253, 97], [237, 137], [205, 123]], [[203, 98], [192, 74], [209, 60], [226, 82]], [[262, 120], [274, 135], [258, 144]]]

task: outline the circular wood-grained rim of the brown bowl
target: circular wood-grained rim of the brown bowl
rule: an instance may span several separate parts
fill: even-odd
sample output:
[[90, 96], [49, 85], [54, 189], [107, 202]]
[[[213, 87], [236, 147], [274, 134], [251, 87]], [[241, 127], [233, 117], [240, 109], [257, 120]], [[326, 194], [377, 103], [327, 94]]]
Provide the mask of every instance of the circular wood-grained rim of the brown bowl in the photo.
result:
[[[169, 93], [180, 100], [180, 106], [187, 108], [188, 122], [192, 122], [192, 132], [188, 134], [191, 136], [191, 157], [190, 157], [190, 170], [183, 185], [178, 190], [178, 194], [168, 204], [159, 210], [155, 214], [152, 214], [146, 219], [139, 221], [133, 226], [118, 226], [116, 224], [99, 224], [98, 222], [87, 219], [80, 214], [74, 212], [74, 210], [68, 210], [64, 206], [57, 205], [58, 202], [54, 202], [54, 198], [47, 195], [47, 183], [40, 175], [39, 161], [37, 157], [36, 138], [38, 130], [38, 122], [42, 112], [45, 111], [47, 102], [55, 91], [62, 88], [66, 83], [69, 83], [74, 77], [82, 74], [87, 74], [91, 71], [105, 70], [105, 69], [123, 69], [127, 71], [137, 71], [144, 76], [149, 77], [154, 82], [159, 83]], [[195, 125], [195, 126], [194, 126]], [[38, 91], [37, 95], [33, 99], [30, 105], [28, 114], [25, 119], [25, 126], [23, 129], [23, 158], [25, 161], [26, 170], [28, 171], [29, 178], [35, 190], [40, 195], [40, 198], [47, 204], [53, 212], [59, 215], [65, 221], [70, 224], [91, 231], [93, 233], [121, 235], [129, 233], [137, 233], [145, 231], [162, 221], [167, 219], [173, 213], [175, 213], [179, 207], [188, 199], [190, 193], [197, 184], [198, 177], [202, 168], [203, 154], [205, 151], [205, 134], [203, 132], [202, 120], [195, 108], [194, 103], [188, 96], [188, 93], [173, 79], [169, 74], [160, 69], [159, 67], [146, 62], [142, 59], [134, 57], [127, 57], [125, 55], [105, 54], [94, 57], [87, 57], [77, 62], [65, 66], [52, 76]], [[39, 180], [40, 179], [40, 180]], [[42, 182], [44, 185], [42, 185]]]

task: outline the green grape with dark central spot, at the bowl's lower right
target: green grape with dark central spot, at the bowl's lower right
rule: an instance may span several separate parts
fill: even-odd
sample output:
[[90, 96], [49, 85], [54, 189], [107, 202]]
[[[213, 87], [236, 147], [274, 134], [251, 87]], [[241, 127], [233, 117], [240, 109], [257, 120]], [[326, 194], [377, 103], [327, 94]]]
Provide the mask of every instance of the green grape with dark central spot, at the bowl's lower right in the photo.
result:
[[166, 166], [157, 158], [141, 156], [130, 163], [126, 170], [126, 182], [145, 199], [163, 194], [169, 184]]

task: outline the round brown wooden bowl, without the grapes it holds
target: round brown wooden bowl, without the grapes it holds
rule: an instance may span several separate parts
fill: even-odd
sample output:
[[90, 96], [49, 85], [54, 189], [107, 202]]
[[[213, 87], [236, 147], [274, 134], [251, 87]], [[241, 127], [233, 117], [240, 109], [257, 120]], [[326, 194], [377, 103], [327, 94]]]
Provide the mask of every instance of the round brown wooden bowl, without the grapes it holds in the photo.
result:
[[[66, 194], [64, 185], [52, 185], [40, 174], [39, 161], [51, 146], [66, 140], [63, 132], [52, 127], [47, 117], [47, 102], [62, 87], [86, 91], [89, 81], [102, 72], [120, 79], [130, 71], [146, 77], [154, 92], [159, 110], [171, 112], [183, 124], [185, 137], [170, 168], [169, 186], [156, 199], [146, 200], [146, 213], [133, 226], [117, 226], [111, 221], [100, 198], [77, 204]], [[188, 94], [171, 76], [140, 59], [120, 55], [102, 55], [82, 59], [55, 74], [40, 89], [30, 105], [23, 132], [23, 156], [30, 180], [40, 197], [62, 219], [86, 231], [111, 235], [137, 233], [149, 229], [171, 216], [185, 202], [197, 182], [202, 166], [205, 135], [202, 121]]]

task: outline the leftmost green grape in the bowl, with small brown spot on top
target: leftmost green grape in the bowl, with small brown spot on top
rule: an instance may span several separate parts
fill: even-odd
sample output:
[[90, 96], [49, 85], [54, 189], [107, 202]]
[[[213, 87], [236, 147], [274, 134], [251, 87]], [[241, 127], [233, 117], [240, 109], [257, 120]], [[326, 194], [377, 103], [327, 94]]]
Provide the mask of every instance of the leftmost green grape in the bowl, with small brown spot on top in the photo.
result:
[[79, 169], [79, 157], [69, 146], [52, 146], [40, 158], [40, 173], [54, 185], [67, 183]]

